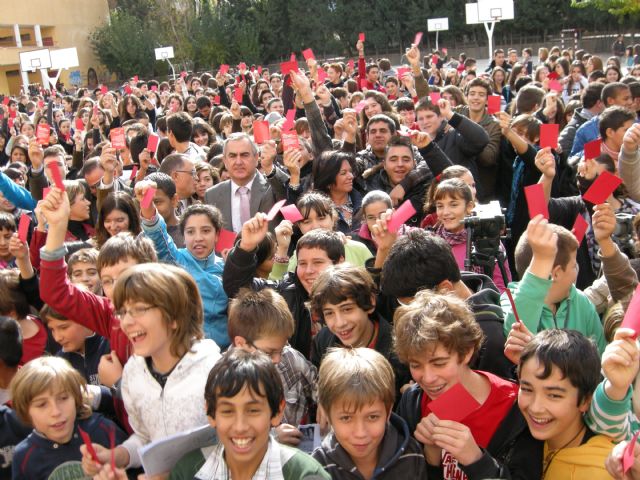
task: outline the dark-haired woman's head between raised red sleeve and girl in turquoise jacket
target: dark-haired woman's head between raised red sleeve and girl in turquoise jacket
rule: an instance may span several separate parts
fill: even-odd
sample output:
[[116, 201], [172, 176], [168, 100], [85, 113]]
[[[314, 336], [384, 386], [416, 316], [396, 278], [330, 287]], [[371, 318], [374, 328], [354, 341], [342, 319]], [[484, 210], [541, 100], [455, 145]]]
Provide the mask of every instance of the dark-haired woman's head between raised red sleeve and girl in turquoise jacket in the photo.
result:
[[140, 214], [133, 198], [126, 192], [110, 192], [101, 202], [96, 224], [96, 246], [98, 249], [112, 236], [120, 232], [141, 232]]

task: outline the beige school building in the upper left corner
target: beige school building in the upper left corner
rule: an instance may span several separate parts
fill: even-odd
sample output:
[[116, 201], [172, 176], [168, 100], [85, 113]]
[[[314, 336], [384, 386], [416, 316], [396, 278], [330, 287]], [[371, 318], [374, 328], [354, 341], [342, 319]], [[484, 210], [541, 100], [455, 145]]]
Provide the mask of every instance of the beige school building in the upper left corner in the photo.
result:
[[78, 65], [60, 72], [65, 85], [77, 78], [85, 85], [89, 69], [98, 70], [89, 35], [108, 21], [107, 0], [4, 0], [1, 9], [0, 94], [18, 94], [25, 84], [50, 88], [47, 78], [55, 77], [56, 71], [21, 72], [21, 52], [75, 47]]

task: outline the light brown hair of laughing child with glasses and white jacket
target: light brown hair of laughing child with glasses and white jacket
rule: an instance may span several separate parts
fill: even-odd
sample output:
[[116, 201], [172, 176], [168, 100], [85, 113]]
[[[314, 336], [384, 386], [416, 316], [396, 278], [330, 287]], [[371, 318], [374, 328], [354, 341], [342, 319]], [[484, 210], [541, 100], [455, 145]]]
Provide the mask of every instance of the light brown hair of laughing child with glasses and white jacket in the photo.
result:
[[198, 286], [182, 268], [159, 263], [142, 263], [128, 268], [116, 281], [113, 304], [120, 310], [127, 302], [141, 302], [162, 312], [162, 320], [171, 331], [170, 351], [182, 357], [195, 340], [204, 337], [204, 314]]

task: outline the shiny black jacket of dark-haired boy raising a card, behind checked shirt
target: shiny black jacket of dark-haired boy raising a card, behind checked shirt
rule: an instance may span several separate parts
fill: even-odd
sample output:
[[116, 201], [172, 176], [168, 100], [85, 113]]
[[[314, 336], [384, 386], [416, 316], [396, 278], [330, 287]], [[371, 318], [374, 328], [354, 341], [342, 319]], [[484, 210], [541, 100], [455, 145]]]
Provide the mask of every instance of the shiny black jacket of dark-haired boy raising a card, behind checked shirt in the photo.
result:
[[283, 280], [273, 281], [254, 278], [257, 268], [255, 252], [245, 252], [235, 247], [229, 252], [222, 272], [222, 286], [229, 298], [238, 294], [242, 287], [253, 290], [272, 288], [287, 302], [295, 320], [295, 331], [289, 339], [293, 348], [309, 358], [311, 353], [311, 314], [305, 302], [309, 295], [295, 273], [287, 273]]

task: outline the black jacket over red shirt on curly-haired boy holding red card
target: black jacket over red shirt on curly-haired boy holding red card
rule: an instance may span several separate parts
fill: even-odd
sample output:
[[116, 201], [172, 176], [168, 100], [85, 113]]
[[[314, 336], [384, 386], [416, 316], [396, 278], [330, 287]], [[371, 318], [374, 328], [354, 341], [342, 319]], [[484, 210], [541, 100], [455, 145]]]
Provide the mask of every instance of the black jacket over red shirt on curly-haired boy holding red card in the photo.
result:
[[[411, 432], [421, 420], [422, 395], [422, 389], [414, 385], [405, 391], [398, 405], [397, 413], [406, 420]], [[471, 465], [460, 465], [460, 468], [469, 480], [540, 480], [543, 446], [543, 442], [531, 436], [518, 402], [514, 402], [484, 449], [482, 458]], [[429, 480], [443, 478], [442, 468], [428, 466], [428, 472]]]

